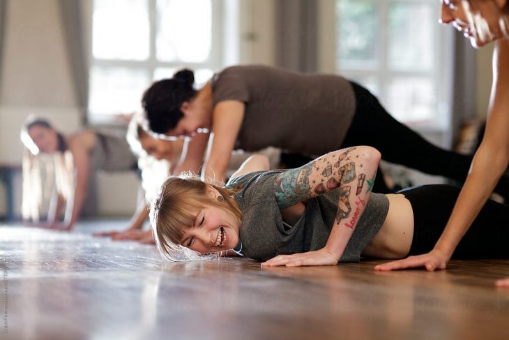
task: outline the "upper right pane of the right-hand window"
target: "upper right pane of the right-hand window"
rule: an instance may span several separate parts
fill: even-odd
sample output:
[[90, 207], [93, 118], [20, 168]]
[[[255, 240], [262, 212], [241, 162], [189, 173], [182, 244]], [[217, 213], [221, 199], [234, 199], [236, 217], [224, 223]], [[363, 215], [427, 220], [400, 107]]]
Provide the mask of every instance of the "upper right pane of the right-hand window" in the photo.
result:
[[430, 71], [436, 50], [437, 12], [432, 3], [395, 1], [390, 4], [388, 64], [391, 69]]

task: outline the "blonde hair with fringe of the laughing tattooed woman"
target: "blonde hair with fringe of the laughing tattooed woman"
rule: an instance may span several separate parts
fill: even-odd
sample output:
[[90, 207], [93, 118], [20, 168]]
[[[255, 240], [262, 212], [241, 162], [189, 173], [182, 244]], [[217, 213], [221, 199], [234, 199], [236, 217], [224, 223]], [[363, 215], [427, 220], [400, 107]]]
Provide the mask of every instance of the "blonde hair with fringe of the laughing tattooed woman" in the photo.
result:
[[[219, 202], [207, 195], [207, 186], [219, 191], [225, 200]], [[195, 260], [202, 258], [199, 253], [180, 245], [185, 229], [192, 226], [196, 216], [190, 211], [213, 206], [233, 214], [240, 221], [242, 212], [231, 199], [237, 190], [229, 190], [203, 182], [190, 172], [178, 177], [169, 177], [162, 184], [151, 205], [150, 220], [158, 250], [169, 260]]]

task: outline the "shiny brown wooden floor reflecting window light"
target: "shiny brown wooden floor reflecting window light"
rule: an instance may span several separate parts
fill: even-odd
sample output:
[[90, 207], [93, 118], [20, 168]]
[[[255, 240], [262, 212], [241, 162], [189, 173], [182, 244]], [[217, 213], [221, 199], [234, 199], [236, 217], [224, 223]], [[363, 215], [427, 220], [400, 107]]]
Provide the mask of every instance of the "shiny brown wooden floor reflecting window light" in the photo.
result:
[[[509, 260], [379, 273], [167, 263], [153, 246], [0, 226], [0, 339], [509, 339]], [[509, 246], [509, 245], [508, 245]]]

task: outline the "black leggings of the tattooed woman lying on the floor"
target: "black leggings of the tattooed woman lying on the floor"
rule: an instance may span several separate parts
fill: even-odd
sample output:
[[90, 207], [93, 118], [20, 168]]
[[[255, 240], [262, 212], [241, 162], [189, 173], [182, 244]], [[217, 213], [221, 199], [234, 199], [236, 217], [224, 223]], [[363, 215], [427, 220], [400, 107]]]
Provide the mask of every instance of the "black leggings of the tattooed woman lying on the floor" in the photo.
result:
[[[413, 209], [413, 239], [409, 255], [431, 251], [438, 241], [460, 189], [446, 184], [400, 191]], [[453, 258], [509, 258], [509, 205], [488, 200], [459, 242]]]

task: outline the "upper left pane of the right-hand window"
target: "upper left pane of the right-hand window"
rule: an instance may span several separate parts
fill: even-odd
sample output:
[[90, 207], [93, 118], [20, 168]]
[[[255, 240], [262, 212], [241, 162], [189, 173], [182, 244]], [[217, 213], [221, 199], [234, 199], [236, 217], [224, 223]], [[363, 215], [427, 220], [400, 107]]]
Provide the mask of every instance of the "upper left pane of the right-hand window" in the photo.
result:
[[378, 8], [372, 0], [337, 0], [337, 67], [378, 64]]

